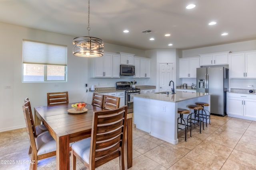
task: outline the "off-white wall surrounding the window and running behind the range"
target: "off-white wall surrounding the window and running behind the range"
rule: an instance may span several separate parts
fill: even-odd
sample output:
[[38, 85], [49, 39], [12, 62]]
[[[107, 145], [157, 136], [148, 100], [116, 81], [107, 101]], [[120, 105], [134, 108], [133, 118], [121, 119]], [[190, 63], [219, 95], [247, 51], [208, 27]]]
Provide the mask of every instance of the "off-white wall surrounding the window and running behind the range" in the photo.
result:
[[[0, 131], [25, 127], [22, 104], [24, 98], [31, 101], [34, 106], [47, 105], [47, 92], [68, 91], [69, 102], [86, 101], [87, 94], [85, 83], [102, 83], [115, 86], [116, 81], [133, 80], [120, 79], [92, 79], [88, 78], [88, 59], [74, 57], [72, 54], [73, 36], [62, 35], [47, 31], [30, 29], [6, 23], [0, 23]], [[29, 39], [48, 43], [67, 45], [67, 82], [40, 82], [22, 83], [22, 40]], [[104, 51], [133, 53], [144, 57], [145, 51], [118, 45], [105, 44]], [[95, 83], [94, 83], [95, 82]], [[145, 80], [138, 80], [143, 84]], [[11, 86], [11, 89], [6, 89]]]

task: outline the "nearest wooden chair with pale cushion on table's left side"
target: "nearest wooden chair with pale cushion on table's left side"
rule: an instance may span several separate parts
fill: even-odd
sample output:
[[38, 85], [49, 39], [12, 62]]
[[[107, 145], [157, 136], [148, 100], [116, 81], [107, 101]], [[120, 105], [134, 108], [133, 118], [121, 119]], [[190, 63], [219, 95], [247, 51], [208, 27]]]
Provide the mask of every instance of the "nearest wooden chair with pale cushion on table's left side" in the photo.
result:
[[31, 155], [31, 164], [30, 170], [37, 169], [38, 160], [48, 158], [56, 155], [56, 142], [50, 135], [50, 133], [46, 132], [41, 135], [35, 136], [36, 132], [34, 131], [33, 125], [30, 120], [30, 115], [28, 111], [28, 102], [26, 102], [23, 106], [23, 114], [26, 122], [26, 131], [28, 133], [28, 138], [30, 142], [30, 146], [32, 147], [32, 155]]

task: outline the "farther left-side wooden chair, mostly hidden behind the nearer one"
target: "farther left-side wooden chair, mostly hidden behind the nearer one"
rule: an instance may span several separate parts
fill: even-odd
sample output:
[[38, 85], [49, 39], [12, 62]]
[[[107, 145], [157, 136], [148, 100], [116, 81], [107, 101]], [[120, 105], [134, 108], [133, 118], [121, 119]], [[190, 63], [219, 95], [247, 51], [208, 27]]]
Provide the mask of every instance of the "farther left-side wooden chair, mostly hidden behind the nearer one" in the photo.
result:
[[[29, 114], [29, 117], [30, 117], [30, 121], [31, 121], [31, 124], [32, 124], [33, 131], [34, 131], [34, 136], [37, 137], [40, 134], [48, 132], [48, 130], [46, 129], [46, 127], [44, 125], [35, 126], [33, 113], [32, 113], [30, 101], [28, 100], [28, 98], [24, 99], [24, 103], [28, 103], [28, 114]], [[31, 152], [32, 152], [32, 148], [31, 148], [31, 145], [30, 145], [29, 150], [28, 150], [28, 154], [31, 154]]]

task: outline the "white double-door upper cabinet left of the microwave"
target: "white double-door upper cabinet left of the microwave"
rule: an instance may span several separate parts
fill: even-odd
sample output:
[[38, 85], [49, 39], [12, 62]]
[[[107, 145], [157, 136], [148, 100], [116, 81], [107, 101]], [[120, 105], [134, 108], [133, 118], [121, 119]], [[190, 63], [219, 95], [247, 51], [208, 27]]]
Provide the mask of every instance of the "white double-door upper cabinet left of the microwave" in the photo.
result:
[[90, 58], [91, 77], [120, 78], [120, 55], [104, 52], [102, 57]]

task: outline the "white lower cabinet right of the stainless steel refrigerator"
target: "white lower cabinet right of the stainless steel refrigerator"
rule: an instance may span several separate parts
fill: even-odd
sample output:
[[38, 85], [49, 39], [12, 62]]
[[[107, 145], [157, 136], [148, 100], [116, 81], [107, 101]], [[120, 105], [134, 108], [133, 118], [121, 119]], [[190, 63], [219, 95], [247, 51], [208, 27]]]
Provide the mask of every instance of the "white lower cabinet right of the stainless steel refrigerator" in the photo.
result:
[[256, 121], [256, 94], [228, 93], [228, 116]]

